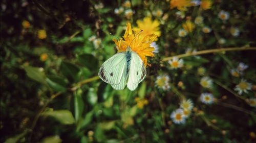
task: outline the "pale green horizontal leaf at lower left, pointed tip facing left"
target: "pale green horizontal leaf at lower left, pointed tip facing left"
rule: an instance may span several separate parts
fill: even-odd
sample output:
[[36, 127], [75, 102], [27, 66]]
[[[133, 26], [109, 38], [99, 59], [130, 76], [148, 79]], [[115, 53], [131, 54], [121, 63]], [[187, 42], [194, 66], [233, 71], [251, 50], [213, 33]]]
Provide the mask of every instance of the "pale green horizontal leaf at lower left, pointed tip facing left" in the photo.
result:
[[53, 117], [55, 120], [65, 125], [75, 123], [75, 119], [69, 110], [46, 111], [41, 115]]

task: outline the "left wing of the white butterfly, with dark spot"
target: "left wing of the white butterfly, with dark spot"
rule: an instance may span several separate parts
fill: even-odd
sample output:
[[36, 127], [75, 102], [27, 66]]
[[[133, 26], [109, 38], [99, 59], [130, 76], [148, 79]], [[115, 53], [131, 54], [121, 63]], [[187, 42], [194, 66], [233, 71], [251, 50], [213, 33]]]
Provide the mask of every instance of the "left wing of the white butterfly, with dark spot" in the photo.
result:
[[[119, 89], [123, 87], [123, 80], [125, 81], [125, 78], [123, 76], [125, 73], [125, 69], [125, 53], [117, 53], [101, 65], [99, 69], [99, 77], [104, 82], [111, 84], [112, 87], [114, 86], [113, 88], [116, 87]], [[121, 81], [122, 83], [120, 83]]]

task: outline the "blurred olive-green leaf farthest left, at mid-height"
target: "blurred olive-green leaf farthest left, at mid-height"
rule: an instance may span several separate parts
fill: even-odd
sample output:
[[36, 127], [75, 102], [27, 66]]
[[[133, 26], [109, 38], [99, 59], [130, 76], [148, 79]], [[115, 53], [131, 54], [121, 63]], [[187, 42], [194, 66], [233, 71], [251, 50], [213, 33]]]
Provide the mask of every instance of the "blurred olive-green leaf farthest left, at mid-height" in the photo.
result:
[[33, 79], [37, 82], [47, 85], [44, 68], [32, 67], [32, 66], [25, 66], [24, 68], [25, 68], [25, 71], [26, 71], [28, 77], [30, 77], [31, 79]]

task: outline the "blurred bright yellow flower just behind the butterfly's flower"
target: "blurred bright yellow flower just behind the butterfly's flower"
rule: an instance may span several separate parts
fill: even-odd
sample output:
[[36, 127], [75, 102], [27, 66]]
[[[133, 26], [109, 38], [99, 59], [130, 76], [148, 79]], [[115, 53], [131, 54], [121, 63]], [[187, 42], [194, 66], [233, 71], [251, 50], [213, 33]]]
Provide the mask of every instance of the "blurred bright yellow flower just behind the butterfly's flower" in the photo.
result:
[[[150, 34], [155, 34], [157, 37], [161, 35], [161, 31], [159, 30], [160, 22], [157, 19], [152, 21], [151, 17], [145, 17], [143, 21], [137, 20], [137, 25], [138, 27], [135, 27], [134, 30], [136, 32], [143, 30], [141, 32], [141, 35], [146, 36]], [[157, 41], [157, 38], [155, 40]]]

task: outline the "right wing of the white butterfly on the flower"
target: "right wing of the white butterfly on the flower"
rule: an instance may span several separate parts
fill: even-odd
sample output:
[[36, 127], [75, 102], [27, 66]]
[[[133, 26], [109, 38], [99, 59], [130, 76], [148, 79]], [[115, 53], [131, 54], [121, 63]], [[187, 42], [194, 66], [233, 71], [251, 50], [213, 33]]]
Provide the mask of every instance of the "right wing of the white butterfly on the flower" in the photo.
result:
[[131, 65], [129, 70], [129, 77], [127, 87], [130, 90], [135, 90], [138, 84], [146, 77], [146, 68], [143, 61], [136, 52], [132, 51]]

